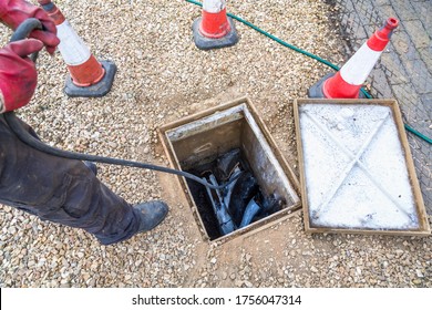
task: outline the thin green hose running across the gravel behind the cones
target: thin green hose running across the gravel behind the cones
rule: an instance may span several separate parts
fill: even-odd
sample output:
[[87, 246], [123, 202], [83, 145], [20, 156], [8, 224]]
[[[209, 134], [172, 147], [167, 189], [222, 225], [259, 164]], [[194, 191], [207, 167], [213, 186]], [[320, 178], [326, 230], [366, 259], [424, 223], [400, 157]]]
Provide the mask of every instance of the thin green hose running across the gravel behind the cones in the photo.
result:
[[[194, 1], [194, 0], [185, 0], [185, 1], [187, 1], [189, 3], [193, 3], [195, 6], [198, 6], [198, 7], [203, 7], [203, 3]], [[318, 61], [320, 63], [323, 63], [327, 66], [330, 66], [331, 69], [333, 69], [336, 71], [339, 71], [339, 69], [340, 69], [336, 64], [333, 64], [333, 63], [331, 63], [331, 62], [329, 62], [329, 61], [327, 61], [327, 60], [325, 60], [325, 59], [322, 59], [322, 58], [320, 58], [320, 56], [318, 56], [316, 54], [312, 54], [312, 53], [310, 53], [308, 51], [305, 51], [305, 50], [302, 50], [300, 48], [297, 48], [297, 46], [295, 46], [292, 44], [289, 44], [289, 43], [285, 42], [284, 40], [272, 35], [271, 33], [268, 33], [267, 31], [256, 27], [255, 24], [244, 20], [243, 18], [239, 18], [239, 17], [237, 17], [235, 14], [232, 14], [232, 13], [227, 13], [227, 16], [230, 17], [232, 19], [235, 19], [235, 20], [237, 20], [237, 21], [239, 21], [239, 22], [250, 27], [251, 29], [258, 31], [259, 33], [264, 34], [265, 37], [270, 38], [271, 40], [278, 42], [279, 44], [281, 44], [281, 45], [284, 45], [284, 46], [286, 46], [288, 49], [291, 49], [291, 50], [294, 50], [294, 51], [296, 51], [296, 52], [298, 52], [300, 54], [307, 55], [308, 58], [315, 59], [316, 61]], [[368, 91], [366, 91], [364, 89], [361, 89], [361, 92], [366, 95], [367, 99], [372, 99], [372, 95], [369, 94]], [[409, 126], [408, 124], [404, 124], [404, 126], [405, 126], [405, 130], [409, 131], [410, 133], [416, 135], [418, 137], [420, 137], [421, 140], [428, 142], [429, 144], [432, 144], [432, 138], [430, 138], [430, 137], [423, 135], [422, 133], [415, 131], [413, 127]]]

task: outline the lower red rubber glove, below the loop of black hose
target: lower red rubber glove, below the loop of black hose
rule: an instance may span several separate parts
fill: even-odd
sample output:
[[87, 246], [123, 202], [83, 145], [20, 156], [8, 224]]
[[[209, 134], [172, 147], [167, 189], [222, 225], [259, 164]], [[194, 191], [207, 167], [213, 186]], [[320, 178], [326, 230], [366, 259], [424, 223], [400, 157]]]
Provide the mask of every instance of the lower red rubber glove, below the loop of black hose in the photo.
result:
[[30, 102], [38, 83], [38, 73], [28, 55], [42, 49], [41, 41], [25, 39], [9, 43], [0, 50], [0, 93], [3, 94], [0, 113], [13, 111]]

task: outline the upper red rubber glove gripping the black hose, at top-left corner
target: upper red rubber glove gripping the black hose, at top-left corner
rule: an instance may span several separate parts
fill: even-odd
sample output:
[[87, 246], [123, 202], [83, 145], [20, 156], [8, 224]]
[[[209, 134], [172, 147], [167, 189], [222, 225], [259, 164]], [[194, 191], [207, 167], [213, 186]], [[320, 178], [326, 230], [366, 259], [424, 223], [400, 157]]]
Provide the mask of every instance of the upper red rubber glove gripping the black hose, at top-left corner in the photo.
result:
[[60, 40], [56, 38], [56, 28], [47, 12], [24, 0], [1, 0], [0, 20], [13, 30], [28, 18], [39, 19], [43, 25], [42, 30], [33, 30], [30, 38], [38, 39], [47, 46], [47, 51], [53, 54]]

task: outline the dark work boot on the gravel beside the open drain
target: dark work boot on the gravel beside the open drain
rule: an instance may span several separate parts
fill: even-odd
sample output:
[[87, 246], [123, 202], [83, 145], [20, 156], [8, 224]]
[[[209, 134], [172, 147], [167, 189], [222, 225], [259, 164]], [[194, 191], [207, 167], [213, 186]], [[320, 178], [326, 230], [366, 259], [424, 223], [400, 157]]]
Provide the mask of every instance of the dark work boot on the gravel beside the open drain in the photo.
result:
[[140, 228], [136, 231], [144, 232], [155, 228], [168, 214], [168, 206], [161, 200], [153, 200], [134, 206], [134, 210], [140, 215]]

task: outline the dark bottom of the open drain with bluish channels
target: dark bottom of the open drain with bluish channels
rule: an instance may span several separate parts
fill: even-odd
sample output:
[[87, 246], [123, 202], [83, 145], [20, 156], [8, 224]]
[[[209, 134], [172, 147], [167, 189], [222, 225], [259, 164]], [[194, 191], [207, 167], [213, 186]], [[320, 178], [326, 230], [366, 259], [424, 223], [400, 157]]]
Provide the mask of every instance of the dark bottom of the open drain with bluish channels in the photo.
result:
[[[209, 183], [213, 178], [218, 185], [226, 184], [236, 174], [240, 175], [232, 184], [232, 190], [226, 188], [219, 193], [209, 192], [205, 186], [187, 179], [191, 194], [210, 240], [265, 218], [286, 205], [286, 202], [264, 194], [245, 158], [239, 148], [234, 148], [212, 163], [197, 165], [188, 170], [188, 173], [206, 178]], [[226, 211], [220, 209], [222, 205], [226, 206]]]

